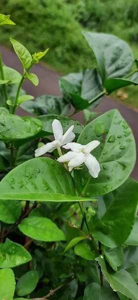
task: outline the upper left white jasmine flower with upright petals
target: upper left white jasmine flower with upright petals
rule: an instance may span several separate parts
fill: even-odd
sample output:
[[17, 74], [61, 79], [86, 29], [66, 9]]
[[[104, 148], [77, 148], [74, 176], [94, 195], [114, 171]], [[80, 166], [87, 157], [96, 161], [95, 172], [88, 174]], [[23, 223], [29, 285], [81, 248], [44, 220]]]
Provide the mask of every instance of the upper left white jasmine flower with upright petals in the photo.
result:
[[74, 128], [74, 125], [69, 127], [69, 129], [63, 134], [63, 128], [59, 120], [54, 119], [52, 122], [52, 129], [54, 133], [55, 140], [46, 143], [42, 147], [35, 150], [35, 157], [39, 157], [43, 155], [46, 152], [52, 152], [56, 148], [65, 145], [66, 143], [70, 143], [74, 137], [75, 134], [72, 132]]

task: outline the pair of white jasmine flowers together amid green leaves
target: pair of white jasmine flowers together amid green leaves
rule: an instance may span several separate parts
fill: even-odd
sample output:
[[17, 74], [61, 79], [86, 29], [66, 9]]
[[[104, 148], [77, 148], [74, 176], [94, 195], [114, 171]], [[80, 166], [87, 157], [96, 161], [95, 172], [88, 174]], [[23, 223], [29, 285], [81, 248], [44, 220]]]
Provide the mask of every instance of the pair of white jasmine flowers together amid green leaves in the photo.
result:
[[41, 156], [46, 152], [52, 152], [56, 148], [59, 150], [60, 147], [63, 146], [65, 149], [71, 149], [71, 151], [60, 156], [57, 161], [67, 162], [69, 171], [72, 171], [73, 168], [77, 168], [84, 163], [87, 166], [90, 175], [97, 178], [100, 172], [100, 164], [95, 156], [91, 154], [91, 151], [100, 144], [100, 141], [93, 140], [86, 145], [71, 142], [75, 138], [75, 134], [72, 132], [73, 128], [74, 125], [63, 134], [63, 128], [60, 121], [54, 119], [52, 122], [52, 130], [55, 140], [36, 149], [35, 157]]

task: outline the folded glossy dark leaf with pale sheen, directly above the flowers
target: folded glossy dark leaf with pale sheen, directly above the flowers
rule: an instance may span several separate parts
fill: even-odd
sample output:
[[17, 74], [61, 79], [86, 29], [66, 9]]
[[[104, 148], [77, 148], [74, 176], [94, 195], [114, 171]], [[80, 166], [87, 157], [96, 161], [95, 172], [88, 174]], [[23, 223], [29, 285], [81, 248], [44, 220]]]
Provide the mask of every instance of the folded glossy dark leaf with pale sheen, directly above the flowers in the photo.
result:
[[101, 91], [103, 91], [102, 81], [97, 69], [86, 70], [84, 73], [70, 73], [67, 76], [60, 77], [60, 87], [63, 96], [68, 100], [76, 110], [82, 110], [90, 106], [96, 107], [101, 99], [92, 101]]

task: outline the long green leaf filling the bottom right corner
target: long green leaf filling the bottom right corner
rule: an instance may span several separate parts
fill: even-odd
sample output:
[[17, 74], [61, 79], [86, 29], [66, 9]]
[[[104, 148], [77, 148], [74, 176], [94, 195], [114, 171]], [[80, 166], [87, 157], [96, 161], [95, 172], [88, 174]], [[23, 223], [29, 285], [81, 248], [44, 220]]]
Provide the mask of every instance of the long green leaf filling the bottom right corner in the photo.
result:
[[138, 285], [125, 269], [122, 268], [117, 272], [108, 271], [102, 255], [96, 258], [96, 260], [101, 265], [102, 272], [114, 290], [120, 291], [133, 300], [138, 300]]

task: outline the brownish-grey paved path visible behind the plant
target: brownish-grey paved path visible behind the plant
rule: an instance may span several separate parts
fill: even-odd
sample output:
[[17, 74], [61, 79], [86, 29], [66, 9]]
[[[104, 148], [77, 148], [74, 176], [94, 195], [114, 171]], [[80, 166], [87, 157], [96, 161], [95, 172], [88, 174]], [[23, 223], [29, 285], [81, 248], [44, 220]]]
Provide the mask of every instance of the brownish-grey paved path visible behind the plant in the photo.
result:
[[[13, 51], [3, 46], [0, 46], [0, 51], [2, 55], [2, 60], [7, 66], [13, 67], [19, 72], [22, 72], [21, 63]], [[40, 63], [35, 64], [32, 67], [32, 72], [36, 73], [36, 75], [38, 76], [39, 85], [34, 86], [29, 80], [25, 80], [25, 82], [23, 83], [23, 87], [26, 90], [27, 94], [31, 94], [34, 97], [40, 96], [42, 94], [52, 94], [56, 96], [61, 95], [58, 87], [57, 78], [57, 75], [59, 75], [59, 73], [47, 69], [43, 64]], [[117, 108], [131, 126], [136, 139], [138, 154], [138, 112], [107, 97], [104, 97], [100, 105], [94, 110], [104, 113], [113, 108]], [[21, 108], [19, 108], [18, 114], [23, 115], [24, 111]], [[75, 114], [73, 118], [83, 123], [83, 113], [79, 112]], [[138, 159], [131, 176], [138, 180]]]

